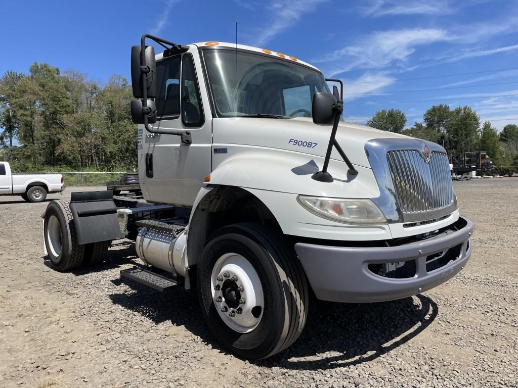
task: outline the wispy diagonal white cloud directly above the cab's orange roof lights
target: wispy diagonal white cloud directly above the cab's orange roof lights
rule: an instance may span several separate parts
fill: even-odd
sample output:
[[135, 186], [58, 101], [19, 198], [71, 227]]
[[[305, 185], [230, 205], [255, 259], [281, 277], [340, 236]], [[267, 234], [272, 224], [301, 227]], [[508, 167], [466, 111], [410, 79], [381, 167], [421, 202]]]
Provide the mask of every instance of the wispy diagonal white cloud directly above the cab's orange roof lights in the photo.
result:
[[313, 12], [327, 0], [276, 0], [270, 4], [271, 21], [261, 29], [252, 46], [264, 46], [275, 36], [296, 24], [305, 13]]

